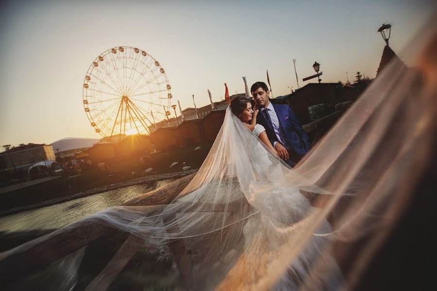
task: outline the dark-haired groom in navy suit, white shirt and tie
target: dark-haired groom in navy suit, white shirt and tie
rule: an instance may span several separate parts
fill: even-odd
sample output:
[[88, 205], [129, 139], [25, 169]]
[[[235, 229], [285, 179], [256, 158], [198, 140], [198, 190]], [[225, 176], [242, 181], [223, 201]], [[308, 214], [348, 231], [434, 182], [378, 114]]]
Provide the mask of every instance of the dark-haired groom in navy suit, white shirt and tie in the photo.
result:
[[264, 126], [279, 157], [293, 167], [310, 148], [306, 132], [288, 105], [270, 102], [266, 83], [254, 83], [251, 93], [260, 109], [256, 115], [256, 123]]

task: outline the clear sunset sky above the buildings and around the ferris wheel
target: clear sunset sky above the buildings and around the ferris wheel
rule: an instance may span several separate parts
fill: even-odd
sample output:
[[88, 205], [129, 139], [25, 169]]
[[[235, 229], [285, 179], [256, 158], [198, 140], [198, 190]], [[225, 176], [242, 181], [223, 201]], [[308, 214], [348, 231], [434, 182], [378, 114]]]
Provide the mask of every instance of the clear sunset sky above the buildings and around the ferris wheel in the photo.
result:
[[[235, 1], [237, 2], [237, 1]], [[313, 75], [323, 82], [373, 78], [392, 24], [397, 52], [436, 8], [431, 1], [2, 1], [0, 4], [0, 144], [50, 144], [101, 138], [82, 102], [85, 73], [103, 51], [146, 50], [166, 69], [173, 104], [198, 107], [266, 81], [273, 96]], [[402, 58], [402, 54], [400, 55]]]

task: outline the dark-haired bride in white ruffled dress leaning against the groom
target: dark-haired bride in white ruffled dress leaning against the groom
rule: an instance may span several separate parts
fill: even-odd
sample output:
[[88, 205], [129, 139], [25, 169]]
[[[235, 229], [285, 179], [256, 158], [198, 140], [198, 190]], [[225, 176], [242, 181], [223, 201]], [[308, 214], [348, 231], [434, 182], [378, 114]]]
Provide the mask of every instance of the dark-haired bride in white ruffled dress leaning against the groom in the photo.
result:
[[[252, 110], [250, 99], [246, 97], [235, 97], [231, 101], [230, 109], [231, 112], [242, 122], [242, 124], [251, 130], [253, 135], [258, 137], [259, 140], [253, 139], [253, 145], [251, 146], [251, 148], [256, 148], [258, 150], [258, 153], [254, 153], [259, 158], [258, 164], [266, 166], [269, 165], [270, 160], [268, 151], [270, 151], [274, 156], [278, 157], [278, 161], [280, 161], [282, 166], [289, 168], [291, 171], [291, 168], [285, 162], [279, 159], [278, 152], [269, 141], [269, 138], [266, 134], [266, 129], [262, 125], [256, 123], [256, 116], [259, 111], [257, 106], [255, 105], [254, 110]], [[227, 112], [227, 114], [229, 114], [229, 112]], [[249, 122], [251, 123], [249, 124]], [[237, 122], [235, 126], [238, 126]], [[266, 151], [266, 149], [263, 147], [257, 147], [257, 142], [262, 142], [268, 150]], [[275, 171], [274, 167], [269, 167], [269, 175], [267, 175], [266, 178], [269, 178], [269, 181], [275, 181], [278, 178], [284, 178], [283, 176], [275, 177], [275, 175], [283, 174], [282, 171], [284, 171], [284, 169], [282, 169], [282, 167], [280, 168], [280, 171], [276, 172], [278, 169]], [[265, 187], [265, 185], [260, 185], [260, 187], [263, 186]], [[280, 256], [281, 248], [278, 247], [278, 238], [284, 235], [284, 233], [280, 233], [281, 231], [278, 232], [278, 228], [282, 228], [281, 230], [285, 231], [286, 233], [286, 236], [281, 239], [299, 235], [299, 232], [296, 231], [296, 229], [286, 228], [292, 225], [296, 227], [299, 225], [299, 223], [303, 223], [302, 220], [305, 219], [309, 211], [313, 211], [314, 213], [318, 211], [317, 209], [311, 207], [309, 200], [306, 199], [297, 188], [293, 189], [291, 187], [278, 187], [272, 190], [273, 191], [271, 194], [262, 195], [264, 199], [262, 201], [263, 205], [258, 206], [259, 209], [263, 209], [268, 206], [269, 203], [271, 203], [270, 211], [267, 213], [258, 213], [259, 215], [257, 216], [252, 216], [244, 226], [245, 239], [251, 241], [252, 243], [254, 243], [254, 241], [256, 241], [256, 244], [261, 243], [264, 248], [264, 253], [261, 256], [257, 256], [258, 254], [255, 254], [255, 257], [251, 257], [250, 254], [244, 254], [244, 256], [240, 257], [243, 259], [239, 259], [238, 267], [234, 268], [234, 270], [230, 272], [231, 275], [228, 276], [232, 276], [236, 272], [240, 272], [238, 276], [246, 276], [247, 274], [245, 273], [248, 272], [247, 270], [244, 270], [244, 268], [249, 266], [241, 267], [243, 264], [247, 265], [249, 261], [251, 264], [256, 262], [256, 265], [261, 269], [261, 266], [266, 264], [265, 260], [274, 260], [273, 258], [275, 256]], [[270, 202], [270, 199], [274, 199], [276, 201]], [[268, 223], [266, 224], [266, 222]], [[272, 225], [274, 225], [274, 227], [272, 227]], [[272, 229], [269, 229], [270, 227], [272, 227]], [[320, 224], [318, 230], [319, 232], [325, 234], [332, 232], [332, 228], [326, 220]], [[266, 236], [266, 233], [271, 234], [272, 232], [278, 232], [275, 234], [275, 239], [273, 241], [271, 238]], [[259, 233], [261, 233], [261, 235]], [[311, 286], [311, 290], [339, 290], [344, 288], [345, 286], [341, 272], [334, 259], [326, 254], [318, 258], [318, 256], [323, 253], [322, 250], [326, 246], [326, 243], [327, 238], [317, 236], [313, 237], [309, 242], [307, 242], [303, 252], [301, 252], [299, 256], [292, 262], [292, 264], [288, 266], [286, 274], [280, 278], [272, 290], [299, 290], [301, 287], [303, 287], [306, 277], [309, 276], [308, 270], [311, 270], [311, 265], [317, 260], [323, 260], [325, 263], [329, 263], [330, 275], [328, 275], [329, 278], [327, 278], [328, 276], [326, 275], [325, 278], [323, 278], [323, 275], [321, 274], [312, 274], [313, 277], [319, 276], [318, 279], [320, 286], [313, 285]], [[251, 246], [251, 248], [252, 247], [253, 246]], [[231, 283], [229, 281], [232, 280], [228, 280], [228, 282], [223, 284], [227, 287], [223, 288], [224, 290], [235, 288], [235, 282]], [[254, 282], [246, 281], [244, 284], [240, 284], [239, 286], [237, 285], [239, 287], [237, 289], [258, 289], [257, 287], [259, 286], [256, 283], [252, 285], [253, 283]]]

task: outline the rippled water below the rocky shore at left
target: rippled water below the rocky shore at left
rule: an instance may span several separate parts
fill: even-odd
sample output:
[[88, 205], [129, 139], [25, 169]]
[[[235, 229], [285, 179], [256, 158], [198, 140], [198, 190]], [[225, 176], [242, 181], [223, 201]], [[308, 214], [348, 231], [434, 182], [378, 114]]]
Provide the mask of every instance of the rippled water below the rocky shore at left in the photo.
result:
[[88, 214], [126, 203], [134, 197], [157, 189], [173, 180], [174, 179], [168, 179], [142, 185], [128, 186], [56, 205], [0, 217], [0, 231], [7, 233], [61, 228], [78, 221]]

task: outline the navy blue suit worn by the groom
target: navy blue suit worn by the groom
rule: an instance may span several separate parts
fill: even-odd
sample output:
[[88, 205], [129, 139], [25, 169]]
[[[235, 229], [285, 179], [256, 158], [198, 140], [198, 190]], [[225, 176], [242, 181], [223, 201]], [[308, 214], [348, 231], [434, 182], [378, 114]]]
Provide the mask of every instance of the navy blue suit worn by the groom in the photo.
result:
[[[276, 115], [279, 119], [279, 126], [284, 131], [286, 140], [288, 143], [288, 152], [290, 153], [290, 159], [292, 162], [288, 162], [293, 166], [300, 160], [310, 149], [310, 143], [308, 135], [303, 130], [296, 115], [291, 111], [290, 106], [285, 104], [273, 104]], [[270, 143], [279, 142], [278, 137], [275, 134], [274, 129], [270, 126], [264, 114], [261, 110], [256, 115], [256, 123], [261, 124], [265, 129]]]

